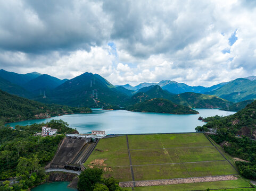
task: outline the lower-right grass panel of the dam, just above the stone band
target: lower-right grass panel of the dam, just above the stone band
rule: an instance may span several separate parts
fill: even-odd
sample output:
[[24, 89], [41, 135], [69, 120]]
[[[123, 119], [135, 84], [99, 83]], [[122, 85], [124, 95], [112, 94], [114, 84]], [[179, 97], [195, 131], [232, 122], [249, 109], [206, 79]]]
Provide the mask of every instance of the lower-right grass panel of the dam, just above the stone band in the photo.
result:
[[237, 174], [228, 161], [185, 163], [184, 165], [192, 177]]

